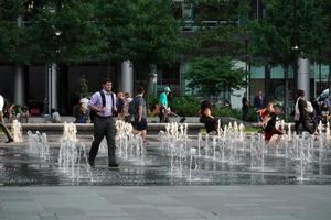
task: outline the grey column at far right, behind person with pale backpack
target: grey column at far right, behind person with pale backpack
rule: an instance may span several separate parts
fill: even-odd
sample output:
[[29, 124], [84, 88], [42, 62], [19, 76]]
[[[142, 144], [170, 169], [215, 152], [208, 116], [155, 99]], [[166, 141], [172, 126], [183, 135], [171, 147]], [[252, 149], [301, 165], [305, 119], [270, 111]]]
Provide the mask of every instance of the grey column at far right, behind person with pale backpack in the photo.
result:
[[307, 99], [310, 99], [310, 73], [309, 73], [309, 59], [298, 59], [298, 89], [305, 90]]

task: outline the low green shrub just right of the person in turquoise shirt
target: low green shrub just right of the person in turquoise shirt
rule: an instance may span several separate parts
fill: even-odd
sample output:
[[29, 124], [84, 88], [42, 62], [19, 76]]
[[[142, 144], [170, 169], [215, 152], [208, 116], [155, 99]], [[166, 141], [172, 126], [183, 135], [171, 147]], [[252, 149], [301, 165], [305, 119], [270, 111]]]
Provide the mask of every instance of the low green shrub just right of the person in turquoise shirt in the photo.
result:
[[199, 116], [200, 101], [192, 96], [172, 97], [170, 108], [179, 116]]

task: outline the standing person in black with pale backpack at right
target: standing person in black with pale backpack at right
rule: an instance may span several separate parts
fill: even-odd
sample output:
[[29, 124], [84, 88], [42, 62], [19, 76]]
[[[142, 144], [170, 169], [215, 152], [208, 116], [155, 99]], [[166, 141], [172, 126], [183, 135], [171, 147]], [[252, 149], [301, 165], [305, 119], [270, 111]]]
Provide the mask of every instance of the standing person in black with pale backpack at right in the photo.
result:
[[[305, 131], [308, 131], [310, 134], [314, 133], [316, 130], [316, 123], [313, 122], [311, 118], [312, 111], [309, 110], [311, 108], [308, 108], [308, 106], [311, 106], [311, 103], [308, 103], [308, 101], [305, 99], [305, 91], [302, 89], [299, 89], [297, 91], [297, 101], [295, 106], [295, 131], [299, 132], [299, 127], [302, 124]], [[309, 125], [310, 121], [312, 121], [312, 128]]]

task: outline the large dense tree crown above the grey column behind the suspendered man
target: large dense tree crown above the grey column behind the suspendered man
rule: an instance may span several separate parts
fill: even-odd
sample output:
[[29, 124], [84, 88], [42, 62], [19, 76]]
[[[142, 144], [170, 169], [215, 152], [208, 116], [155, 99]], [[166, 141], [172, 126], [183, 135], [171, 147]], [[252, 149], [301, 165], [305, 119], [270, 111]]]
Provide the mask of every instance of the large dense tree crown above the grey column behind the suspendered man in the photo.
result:
[[131, 61], [148, 80], [151, 65], [179, 59], [179, 22], [171, 0], [98, 0], [102, 53], [113, 62]]

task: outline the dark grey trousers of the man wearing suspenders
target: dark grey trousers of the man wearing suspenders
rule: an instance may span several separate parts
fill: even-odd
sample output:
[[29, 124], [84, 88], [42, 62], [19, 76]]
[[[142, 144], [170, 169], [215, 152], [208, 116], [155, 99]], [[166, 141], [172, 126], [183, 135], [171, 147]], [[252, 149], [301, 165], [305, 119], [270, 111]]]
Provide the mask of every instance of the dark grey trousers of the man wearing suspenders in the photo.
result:
[[89, 150], [89, 157], [88, 160], [94, 162], [98, 150], [100, 142], [106, 136], [107, 145], [108, 145], [108, 162], [109, 164], [116, 163], [116, 156], [115, 156], [115, 118], [100, 118], [95, 117], [94, 120], [94, 141], [92, 142], [92, 146]]

